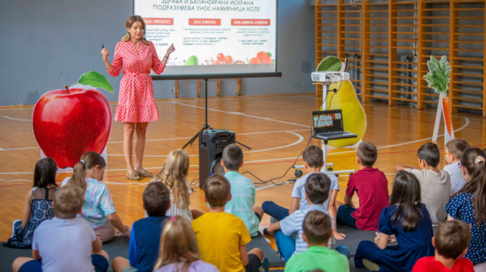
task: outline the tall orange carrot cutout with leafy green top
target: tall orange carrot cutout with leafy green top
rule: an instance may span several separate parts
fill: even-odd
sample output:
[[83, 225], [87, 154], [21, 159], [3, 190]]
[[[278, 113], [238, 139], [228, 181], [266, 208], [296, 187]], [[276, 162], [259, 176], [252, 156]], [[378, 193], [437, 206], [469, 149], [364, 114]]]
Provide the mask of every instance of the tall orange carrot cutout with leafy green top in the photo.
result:
[[452, 136], [452, 117], [451, 117], [451, 99], [447, 96], [447, 90], [449, 90], [449, 75], [451, 74], [451, 66], [447, 61], [446, 56], [442, 56], [440, 61], [434, 56], [430, 56], [430, 60], [427, 62], [428, 74], [424, 76], [428, 83], [428, 87], [431, 87], [443, 94], [442, 109], [444, 110], [444, 121], [446, 122], [447, 133], [449, 137]]

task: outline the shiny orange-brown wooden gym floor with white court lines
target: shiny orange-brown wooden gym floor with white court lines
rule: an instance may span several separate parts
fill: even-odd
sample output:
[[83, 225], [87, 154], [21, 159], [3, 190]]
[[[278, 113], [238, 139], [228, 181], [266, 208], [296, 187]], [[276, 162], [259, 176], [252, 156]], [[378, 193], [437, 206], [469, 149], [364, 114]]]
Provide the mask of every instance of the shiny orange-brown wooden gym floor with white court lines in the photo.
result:
[[[261, 180], [285, 182], [294, 177], [290, 169], [303, 151], [311, 134], [311, 111], [317, 108], [315, 94], [278, 96], [240, 96], [210, 98], [208, 100], [208, 123], [212, 128], [233, 130], [238, 141], [251, 146], [244, 150], [244, 167]], [[204, 124], [203, 99], [172, 99], [157, 101], [160, 119], [151, 122], [147, 131], [144, 168], [156, 173], [160, 171], [167, 154], [181, 148]], [[116, 104], [112, 103], [112, 112]], [[35, 162], [40, 159], [40, 148], [32, 133], [32, 106], [22, 108], [0, 108], [0, 241], [11, 235], [12, 221], [20, 219], [24, 209], [24, 197], [32, 186]], [[367, 114], [367, 131], [363, 140], [378, 147], [375, 167], [387, 174], [391, 184], [396, 163], [417, 165], [416, 151], [421, 144], [430, 142], [433, 134], [435, 109], [416, 110], [409, 107], [389, 107], [383, 103], [364, 105]], [[486, 147], [486, 119], [478, 114], [453, 114], [455, 137], [465, 139], [471, 146]], [[106, 182], [119, 216], [131, 225], [144, 216], [142, 192], [149, 178], [133, 182], [125, 178], [122, 151], [122, 124], [114, 122], [108, 140], [108, 168], [103, 181]], [[440, 130], [444, 131], [443, 126]], [[318, 141], [312, 141], [319, 144]], [[444, 148], [444, 137], [439, 137], [439, 148]], [[199, 150], [197, 140], [185, 148], [190, 154], [189, 180], [199, 173]], [[337, 148], [328, 151], [328, 162], [334, 169], [357, 169], [355, 149]], [[297, 165], [302, 164], [301, 158]], [[439, 165], [442, 169], [443, 162]], [[56, 180], [71, 175], [58, 173]], [[247, 175], [249, 176], [249, 175]], [[293, 183], [274, 186], [271, 182], [261, 184], [249, 176], [258, 189], [256, 205], [263, 201], [275, 201], [290, 205]], [[279, 178], [281, 177], [281, 178]], [[339, 177], [342, 201], [348, 177]], [[203, 193], [197, 185], [191, 195], [191, 208], [206, 211]], [[357, 199], [354, 198], [353, 201]], [[262, 225], [269, 223], [264, 216]]]

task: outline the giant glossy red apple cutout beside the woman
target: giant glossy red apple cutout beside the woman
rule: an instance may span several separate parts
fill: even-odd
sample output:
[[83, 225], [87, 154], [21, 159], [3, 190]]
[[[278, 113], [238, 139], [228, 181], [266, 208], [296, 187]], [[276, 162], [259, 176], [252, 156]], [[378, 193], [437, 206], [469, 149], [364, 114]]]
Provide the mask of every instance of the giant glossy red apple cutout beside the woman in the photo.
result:
[[[81, 84], [86, 83], [81, 80], [83, 76]], [[37, 143], [61, 169], [74, 167], [87, 151], [101, 153], [108, 142], [111, 123], [110, 105], [101, 92], [69, 89], [68, 86], [65, 90], [52, 90], [42, 95], [32, 117]]]

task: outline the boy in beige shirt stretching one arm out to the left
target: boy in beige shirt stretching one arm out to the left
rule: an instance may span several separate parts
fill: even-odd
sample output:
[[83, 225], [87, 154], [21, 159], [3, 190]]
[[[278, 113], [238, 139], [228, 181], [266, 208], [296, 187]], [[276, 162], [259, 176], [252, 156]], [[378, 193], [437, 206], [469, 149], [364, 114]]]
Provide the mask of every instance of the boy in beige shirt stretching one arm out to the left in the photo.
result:
[[421, 202], [426, 205], [430, 219], [434, 225], [446, 220], [445, 206], [451, 196], [451, 178], [449, 173], [437, 169], [440, 152], [437, 144], [427, 143], [417, 151], [420, 169], [396, 164], [394, 169], [398, 173], [405, 170], [416, 176], [421, 187]]

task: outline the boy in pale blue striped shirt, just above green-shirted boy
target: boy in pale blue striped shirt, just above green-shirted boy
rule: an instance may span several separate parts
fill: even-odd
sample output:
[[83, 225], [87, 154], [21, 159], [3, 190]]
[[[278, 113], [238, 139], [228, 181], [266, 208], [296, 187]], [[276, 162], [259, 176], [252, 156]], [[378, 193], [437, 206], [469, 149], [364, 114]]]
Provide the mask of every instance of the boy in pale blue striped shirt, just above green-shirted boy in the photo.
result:
[[[323, 203], [326, 201], [330, 187], [330, 180], [325, 173], [312, 173], [305, 182], [305, 199], [308, 205], [301, 207], [281, 221], [271, 223], [268, 227], [268, 232], [275, 235], [275, 242], [277, 244], [278, 252], [285, 260], [289, 260], [292, 255], [301, 253], [307, 250], [308, 246], [302, 238], [302, 222], [305, 214], [313, 210], [318, 210], [327, 214], [326, 207]], [[334, 218], [331, 217], [331, 222], [334, 226]], [[297, 237], [294, 239], [292, 234], [297, 232]], [[349, 248], [341, 246], [337, 248], [338, 251], [344, 253], [343, 250], [349, 251]], [[349, 255], [347, 256], [349, 257]]]

